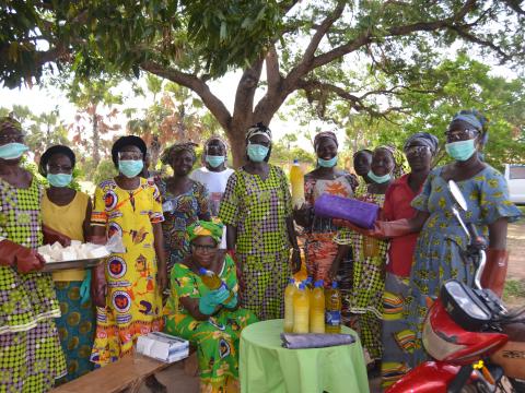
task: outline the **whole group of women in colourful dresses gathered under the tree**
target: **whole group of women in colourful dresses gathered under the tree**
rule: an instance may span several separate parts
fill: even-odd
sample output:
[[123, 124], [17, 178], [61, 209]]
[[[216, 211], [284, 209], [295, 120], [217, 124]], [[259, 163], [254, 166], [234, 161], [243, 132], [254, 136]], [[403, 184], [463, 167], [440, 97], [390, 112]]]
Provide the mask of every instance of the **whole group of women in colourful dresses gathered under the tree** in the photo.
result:
[[[358, 179], [337, 167], [336, 135], [318, 133], [306, 203], [292, 210], [284, 172], [269, 164], [271, 131], [261, 123], [247, 130], [246, 164], [235, 171], [225, 166], [225, 142], [213, 136], [202, 168], [191, 172], [194, 144], [175, 143], [161, 158], [173, 175], [145, 179], [144, 142], [122, 136], [112, 148], [118, 175], [101, 182], [91, 201], [70, 187], [69, 147], [42, 156], [44, 190], [21, 166], [27, 147], [20, 123], [0, 119], [0, 386], [47, 391], [57, 379], [130, 353], [139, 335], [164, 330], [196, 344], [202, 391], [236, 391], [242, 329], [283, 315], [284, 287], [301, 267], [295, 225], [304, 228], [308, 275], [339, 281], [345, 321], [360, 333], [372, 365], [381, 365], [384, 386], [393, 383], [424, 359], [422, 319], [441, 284], [471, 277], [450, 240], [466, 238], [451, 218], [446, 181], [467, 196], [466, 219], [488, 230], [489, 287], [504, 281], [498, 266], [508, 258], [506, 225], [520, 216], [502, 176], [479, 158], [486, 119], [462, 111], [445, 134], [451, 164], [431, 170], [438, 139], [421, 132], [406, 142], [405, 156], [386, 145], [355, 153]], [[324, 193], [376, 203], [380, 221], [364, 230], [316, 216], [313, 205]], [[113, 236], [124, 252], [92, 271], [42, 272], [43, 242], [104, 245]], [[210, 290], [200, 267], [226, 288]], [[164, 390], [154, 378], [149, 384]]]

